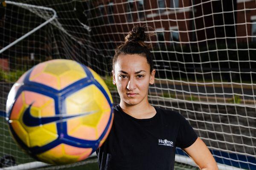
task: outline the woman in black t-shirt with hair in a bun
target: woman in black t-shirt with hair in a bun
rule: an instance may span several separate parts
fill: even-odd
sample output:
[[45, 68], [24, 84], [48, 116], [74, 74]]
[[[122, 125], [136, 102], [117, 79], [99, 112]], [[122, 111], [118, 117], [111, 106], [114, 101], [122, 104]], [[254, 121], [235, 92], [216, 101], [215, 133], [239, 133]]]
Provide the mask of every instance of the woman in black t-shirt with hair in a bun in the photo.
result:
[[153, 107], [148, 86], [155, 70], [144, 27], [135, 26], [113, 57], [113, 84], [120, 103], [105, 143], [96, 153], [100, 170], [173, 170], [175, 147], [181, 147], [202, 170], [217, 170], [204, 142], [175, 111]]

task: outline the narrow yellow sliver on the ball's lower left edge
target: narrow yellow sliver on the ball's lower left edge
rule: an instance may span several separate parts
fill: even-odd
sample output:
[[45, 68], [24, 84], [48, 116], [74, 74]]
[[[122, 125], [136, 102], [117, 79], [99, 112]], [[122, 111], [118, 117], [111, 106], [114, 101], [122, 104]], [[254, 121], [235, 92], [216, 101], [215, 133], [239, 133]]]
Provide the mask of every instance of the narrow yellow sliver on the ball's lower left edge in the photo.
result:
[[11, 125], [17, 136], [22, 140], [24, 144], [26, 144], [29, 147], [29, 135], [26, 132], [26, 130], [20, 125], [20, 123], [17, 120], [13, 120]]

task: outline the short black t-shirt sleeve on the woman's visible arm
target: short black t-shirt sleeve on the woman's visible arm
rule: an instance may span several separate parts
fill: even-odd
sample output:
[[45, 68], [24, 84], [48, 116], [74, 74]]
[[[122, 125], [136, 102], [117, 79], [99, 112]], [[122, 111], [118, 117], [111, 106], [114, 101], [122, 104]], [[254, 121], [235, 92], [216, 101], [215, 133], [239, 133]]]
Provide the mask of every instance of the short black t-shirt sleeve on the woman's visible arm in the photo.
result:
[[191, 146], [198, 138], [189, 122], [180, 115], [180, 125], [177, 133], [176, 146], [186, 148]]

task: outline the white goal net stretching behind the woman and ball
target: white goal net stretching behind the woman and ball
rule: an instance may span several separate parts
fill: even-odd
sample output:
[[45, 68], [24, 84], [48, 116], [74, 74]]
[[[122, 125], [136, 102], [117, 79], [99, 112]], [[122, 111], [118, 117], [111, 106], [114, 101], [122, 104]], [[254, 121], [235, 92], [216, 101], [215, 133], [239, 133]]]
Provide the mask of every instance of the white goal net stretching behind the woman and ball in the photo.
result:
[[[0, 109], [23, 72], [49, 59], [65, 58], [93, 68], [111, 85], [114, 48], [136, 24], [156, 28], [150, 37], [156, 81], [151, 105], [181, 113], [215, 159], [244, 169], [256, 167], [255, 0], [22, 0], [0, 7], [0, 48], [53, 16], [35, 33], [0, 54]], [[7, 63], [7, 64], [6, 64]], [[0, 156], [16, 164], [28, 158], [0, 118]], [[178, 154], [179, 149], [177, 150]], [[72, 165], [72, 166], [76, 166]], [[54, 167], [57, 168], [57, 167]]]

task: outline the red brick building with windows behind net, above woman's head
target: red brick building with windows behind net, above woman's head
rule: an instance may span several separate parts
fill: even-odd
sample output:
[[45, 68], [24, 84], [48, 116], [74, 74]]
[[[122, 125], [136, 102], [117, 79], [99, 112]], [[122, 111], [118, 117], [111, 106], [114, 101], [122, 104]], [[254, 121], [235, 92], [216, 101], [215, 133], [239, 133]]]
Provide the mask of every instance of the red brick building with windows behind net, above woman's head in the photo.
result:
[[103, 33], [104, 30], [109, 33], [105, 40], [122, 42], [124, 34], [117, 33], [128, 33], [135, 24], [146, 24], [156, 28], [158, 32], [157, 37], [151, 39], [153, 43], [164, 40], [170, 43], [188, 42], [191, 34], [186, 30], [192, 28], [191, 20], [186, 20], [192, 17], [190, 3], [183, 3], [183, 0], [116, 0], [114, 3], [109, 0], [96, 1], [93, 6], [98, 6], [98, 16], [102, 16], [102, 23], [96, 34]]

